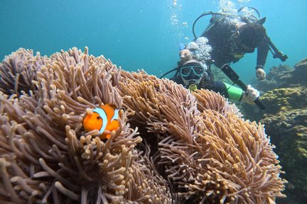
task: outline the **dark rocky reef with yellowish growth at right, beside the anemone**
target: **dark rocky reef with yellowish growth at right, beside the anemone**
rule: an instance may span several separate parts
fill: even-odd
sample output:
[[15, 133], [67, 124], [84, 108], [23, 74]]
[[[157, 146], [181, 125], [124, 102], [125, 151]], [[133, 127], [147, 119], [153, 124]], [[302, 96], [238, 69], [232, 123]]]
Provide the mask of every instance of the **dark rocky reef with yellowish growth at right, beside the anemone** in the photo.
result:
[[264, 91], [265, 111], [243, 106], [251, 120], [265, 125], [276, 145], [281, 165], [289, 181], [286, 196], [278, 203], [306, 203], [307, 200], [307, 58], [295, 67], [272, 67], [267, 79], [257, 82]]

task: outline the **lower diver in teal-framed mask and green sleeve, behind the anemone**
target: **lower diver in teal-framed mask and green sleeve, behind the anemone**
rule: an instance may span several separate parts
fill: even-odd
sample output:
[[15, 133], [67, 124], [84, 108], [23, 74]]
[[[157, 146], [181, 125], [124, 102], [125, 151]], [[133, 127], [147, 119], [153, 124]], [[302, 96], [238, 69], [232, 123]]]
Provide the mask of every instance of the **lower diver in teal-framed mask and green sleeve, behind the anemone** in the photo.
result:
[[177, 72], [171, 80], [177, 84], [182, 84], [185, 88], [193, 91], [195, 89], [209, 89], [219, 92], [226, 98], [244, 103], [254, 104], [254, 101], [259, 98], [259, 91], [248, 85], [246, 91], [227, 84], [222, 81], [214, 81], [212, 73], [206, 64], [198, 60], [188, 60], [176, 68]]

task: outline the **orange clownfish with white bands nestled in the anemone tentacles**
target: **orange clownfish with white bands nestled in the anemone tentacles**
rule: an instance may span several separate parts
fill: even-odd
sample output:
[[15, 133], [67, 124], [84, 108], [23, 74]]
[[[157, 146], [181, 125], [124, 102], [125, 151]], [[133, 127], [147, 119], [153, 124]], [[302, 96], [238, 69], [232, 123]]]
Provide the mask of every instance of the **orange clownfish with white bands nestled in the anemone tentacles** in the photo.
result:
[[[113, 130], [119, 129], [119, 109], [115, 109], [115, 106], [107, 103], [104, 106], [99, 106], [92, 110], [92, 115], [87, 113], [82, 121], [85, 131], [90, 132], [92, 130], [99, 130], [99, 133], [94, 136], [99, 136], [102, 140], [109, 139]], [[109, 132], [104, 132], [109, 130]]]

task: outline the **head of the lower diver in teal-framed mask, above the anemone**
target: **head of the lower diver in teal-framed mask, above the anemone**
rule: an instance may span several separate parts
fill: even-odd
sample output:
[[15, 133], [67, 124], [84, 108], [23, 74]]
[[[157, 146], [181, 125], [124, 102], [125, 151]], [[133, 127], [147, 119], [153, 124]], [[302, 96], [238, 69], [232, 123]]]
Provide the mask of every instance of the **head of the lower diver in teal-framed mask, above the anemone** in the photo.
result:
[[185, 86], [198, 85], [204, 72], [203, 64], [198, 60], [188, 60], [180, 67], [180, 76]]

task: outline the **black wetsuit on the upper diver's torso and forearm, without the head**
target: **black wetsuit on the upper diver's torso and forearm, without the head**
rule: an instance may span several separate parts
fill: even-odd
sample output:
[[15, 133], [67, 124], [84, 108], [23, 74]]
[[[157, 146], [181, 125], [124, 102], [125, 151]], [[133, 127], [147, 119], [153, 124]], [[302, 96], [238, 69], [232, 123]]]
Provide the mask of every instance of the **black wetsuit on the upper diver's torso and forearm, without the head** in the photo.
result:
[[[237, 31], [234, 24], [226, 23], [222, 18], [215, 21], [211, 28], [205, 30], [203, 37], [208, 38], [208, 44], [212, 47], [211, 57], [217, 67], [222, 67], [224, 64], [237, 62], [245, 53], [254, 52], [254, 48], [244, 50], [240, 45], [239, 40], [234, 38], [233, 33]], [[266, 57], [269, 52], [269, 45], [266, 40], [263, 40], [257, 47], [257, 67], [264, 67]]]

